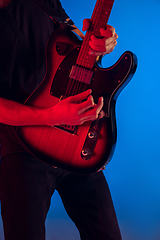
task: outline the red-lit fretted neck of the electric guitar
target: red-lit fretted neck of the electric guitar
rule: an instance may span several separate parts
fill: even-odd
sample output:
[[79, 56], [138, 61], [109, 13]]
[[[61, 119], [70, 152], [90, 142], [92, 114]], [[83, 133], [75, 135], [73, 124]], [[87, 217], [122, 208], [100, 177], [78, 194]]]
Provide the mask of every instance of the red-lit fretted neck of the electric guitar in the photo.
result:
[[76, 64], [88, 69], [92, 69], [96, 61], [95, 56], [89, 55], [89, 41], [92, 35], [101, 37], [100, 28], [105, 28], [108, 22], [114, 0], [97, 0], [90, 27], [85, 35]]

